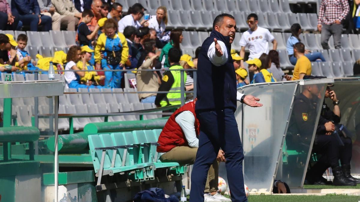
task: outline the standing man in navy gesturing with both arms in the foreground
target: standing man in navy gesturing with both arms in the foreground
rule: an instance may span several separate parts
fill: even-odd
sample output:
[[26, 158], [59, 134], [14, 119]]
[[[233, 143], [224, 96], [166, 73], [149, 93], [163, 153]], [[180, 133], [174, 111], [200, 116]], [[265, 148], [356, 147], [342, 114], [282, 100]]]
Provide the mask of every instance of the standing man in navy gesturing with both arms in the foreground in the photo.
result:
[[198, 57], [196, 117], [200, 123], [199, 148], [192, 174], [190, 202], [204, 201], [204, 188], [210, 165], [219, 149], [225, 152], [226, 173], [233, 202], [247, 201], [244, 190], [243, 148], [234, 112], [237, 100], [259, 107], [258, 98], [236, 91], [236, 75], [231, 58], [231, 43], [236, 32], [235, 18], [218, 15], [210, 37]]

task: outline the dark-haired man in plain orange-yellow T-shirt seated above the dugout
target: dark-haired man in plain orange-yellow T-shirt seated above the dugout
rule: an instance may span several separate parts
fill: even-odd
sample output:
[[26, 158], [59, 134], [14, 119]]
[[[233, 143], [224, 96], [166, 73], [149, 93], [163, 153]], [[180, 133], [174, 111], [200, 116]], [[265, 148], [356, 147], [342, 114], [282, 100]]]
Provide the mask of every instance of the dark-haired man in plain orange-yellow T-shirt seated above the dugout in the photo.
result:
[[294, 54], [297, 58], [297, 62], [292, 80], [303, 79], [305, 75], [311, 75], [311, 62], [305, 56], [305, 45], [301, 42], [295, 43]]

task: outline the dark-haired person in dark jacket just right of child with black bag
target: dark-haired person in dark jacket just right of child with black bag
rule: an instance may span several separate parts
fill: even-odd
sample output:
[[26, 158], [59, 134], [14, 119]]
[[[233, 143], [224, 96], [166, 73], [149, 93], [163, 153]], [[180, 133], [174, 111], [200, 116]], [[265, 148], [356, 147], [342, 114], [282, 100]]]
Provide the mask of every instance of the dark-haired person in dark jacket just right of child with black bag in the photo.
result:
[[138, 59], [136, 59], [136, 55], [138, 54], [138, 49], [134, 45], [134, 39], [136, 37], [136, 28], [134, 26], [127, 26], [124, 29], [124, 36], [127, 41], [127, 46], [129, 46], [129, 69], [135, 69], [138, 64]]

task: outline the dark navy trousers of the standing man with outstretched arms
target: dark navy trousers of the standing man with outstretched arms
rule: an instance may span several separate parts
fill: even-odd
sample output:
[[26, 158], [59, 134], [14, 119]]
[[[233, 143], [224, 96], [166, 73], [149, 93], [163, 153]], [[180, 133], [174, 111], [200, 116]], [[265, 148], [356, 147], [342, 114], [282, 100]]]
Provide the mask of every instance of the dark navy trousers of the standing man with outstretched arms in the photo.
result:
[[190, 202], [204, 201], [204, 189], [210, 165], [219, 149], [225, 152], [225, 166], [233, 201], [247, 202], [243, 177], [243, 146], [238, 124], [231, 109], [197, 112], [200, 123], [199, 148], [191, 174]]

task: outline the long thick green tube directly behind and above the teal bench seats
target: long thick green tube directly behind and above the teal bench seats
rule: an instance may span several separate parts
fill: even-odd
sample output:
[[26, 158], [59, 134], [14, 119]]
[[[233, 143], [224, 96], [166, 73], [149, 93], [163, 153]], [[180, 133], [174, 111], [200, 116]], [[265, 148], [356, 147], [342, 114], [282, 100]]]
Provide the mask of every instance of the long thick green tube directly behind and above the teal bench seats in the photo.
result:
[[85, 125], [84, 133], [97, 134], [97, 133], [125, 132], [125, 131], [142, 130], [142, 129], [148, 129], [148, 130], [159, 129], [164, 127], [167, 119], [168, 117], [161, 119], [151, 119], [151, 120], [89, 123]]

